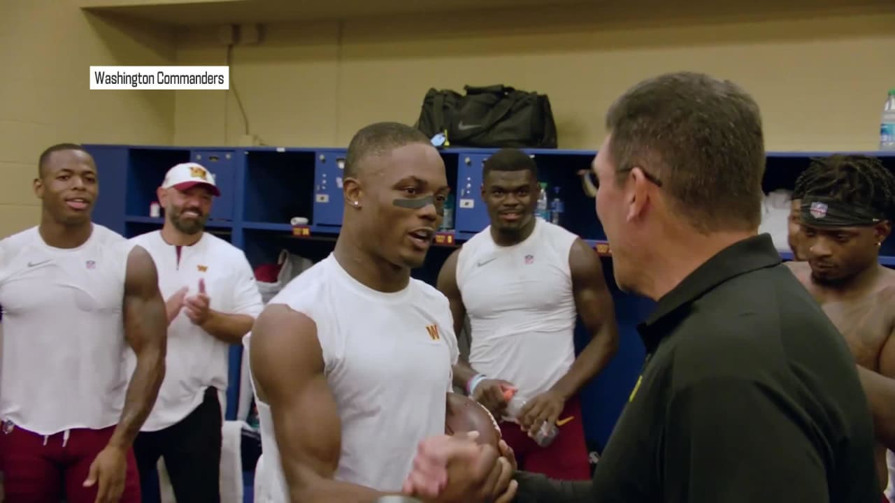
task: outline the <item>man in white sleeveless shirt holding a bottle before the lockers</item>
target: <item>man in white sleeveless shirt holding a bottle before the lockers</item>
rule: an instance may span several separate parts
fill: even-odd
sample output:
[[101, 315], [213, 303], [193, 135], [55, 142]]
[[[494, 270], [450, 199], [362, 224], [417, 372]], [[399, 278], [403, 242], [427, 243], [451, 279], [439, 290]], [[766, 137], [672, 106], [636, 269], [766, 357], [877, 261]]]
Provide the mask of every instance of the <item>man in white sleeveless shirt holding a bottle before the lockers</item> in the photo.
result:
[[[561, 480], [591, 478], [579, 390], [618, 347], [612, 297], [597, 253], [577, 235], [535, 217], [541, 187], [533, 158], [501, 149], [482, 174], [490, 226], [445, 262], [439, 289], [450, 299], [454, 328], [471, 325], [468, 362], [454, 383], [495, 417], [506, 415], [504, 391], [526, 405], [503, 438], [526, 471]], [[592, 339], [575, 359], [575, 321]], [[507, 418], [511, 419], [511, 418]], [[558, 437], [540, 447], [531, 437], [544, 422]], [[526, 434], [526, 432], [528, 434]]]

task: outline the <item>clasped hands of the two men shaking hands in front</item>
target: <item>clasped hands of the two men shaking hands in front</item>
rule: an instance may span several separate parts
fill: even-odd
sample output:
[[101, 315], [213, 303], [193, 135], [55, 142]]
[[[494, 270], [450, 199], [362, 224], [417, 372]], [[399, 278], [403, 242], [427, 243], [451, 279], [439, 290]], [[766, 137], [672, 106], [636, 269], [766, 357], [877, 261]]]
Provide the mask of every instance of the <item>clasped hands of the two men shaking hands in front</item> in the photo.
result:
[[[512, 501], [518, 487], [513, 480], [513, 449], [504, 440], [499, 440], [499, 448], [482, 445], [475, 441], [478, 435], [469, 431], [423, 440], [402, 488], [404, 494], [426, 503]], [[388, 501], [392, 500], [382, 503]]]

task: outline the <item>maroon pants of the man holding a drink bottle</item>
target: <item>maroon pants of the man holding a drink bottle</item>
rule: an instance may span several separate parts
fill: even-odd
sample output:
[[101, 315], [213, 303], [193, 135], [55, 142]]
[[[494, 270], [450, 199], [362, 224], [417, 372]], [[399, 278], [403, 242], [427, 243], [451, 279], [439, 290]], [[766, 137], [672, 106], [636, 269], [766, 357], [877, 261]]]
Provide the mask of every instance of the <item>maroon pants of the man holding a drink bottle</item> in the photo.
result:
[[[563, 422], [569, 417], [571, 421]], [[536, 444], [515, 422], [501, 422], [500, 433], [513, 448], [520, 470], [543, 473], [561, 481], [591, 480], [591, 462], [577, 397], [566, 402], [558, 422], [561, 423], [559, 434], [546, 448]]]

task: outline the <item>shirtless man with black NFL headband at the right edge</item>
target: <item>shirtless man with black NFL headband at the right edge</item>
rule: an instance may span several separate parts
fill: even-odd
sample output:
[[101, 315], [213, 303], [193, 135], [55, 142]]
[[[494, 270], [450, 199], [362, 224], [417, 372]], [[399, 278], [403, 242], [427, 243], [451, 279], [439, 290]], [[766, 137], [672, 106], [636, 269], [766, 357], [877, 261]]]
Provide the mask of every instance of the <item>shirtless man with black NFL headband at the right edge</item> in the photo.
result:
[[[840, 329], [859, 368], [895, 377], [895, 271], [879, 263], [895, 214], [895, 176], [874, 158], [831, 156], [799, 176], [793, 199], [801, 200], [793, 252], [805, 261], [788, 267]], [[884, 485], [883, 445], [876, 465]]]

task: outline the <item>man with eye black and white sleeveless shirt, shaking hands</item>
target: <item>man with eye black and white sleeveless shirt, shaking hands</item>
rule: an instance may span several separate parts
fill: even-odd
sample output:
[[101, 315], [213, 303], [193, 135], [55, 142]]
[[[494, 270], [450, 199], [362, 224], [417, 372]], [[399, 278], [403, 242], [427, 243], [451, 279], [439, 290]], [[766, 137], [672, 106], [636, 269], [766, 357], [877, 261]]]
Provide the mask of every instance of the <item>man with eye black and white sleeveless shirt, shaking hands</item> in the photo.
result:
[[[416, 129], [371, 124], [348, 147], [343, 192], [335, 251], [271, 299], [247, 337], [260, 501], [400, 494], [418, 444], [445, 432], [456, 337], [444, 295], [410, 276], [443, 216], [444, 162]], [[510, 473], [496, 449], [477, 448], [440, 500], [493, 501]]]

